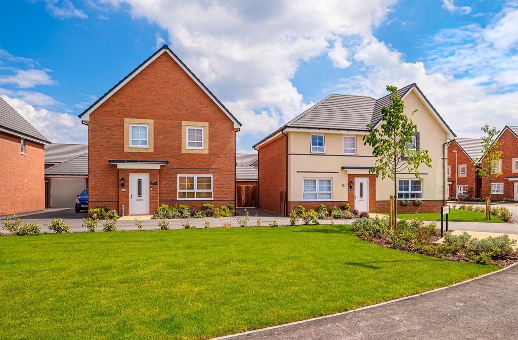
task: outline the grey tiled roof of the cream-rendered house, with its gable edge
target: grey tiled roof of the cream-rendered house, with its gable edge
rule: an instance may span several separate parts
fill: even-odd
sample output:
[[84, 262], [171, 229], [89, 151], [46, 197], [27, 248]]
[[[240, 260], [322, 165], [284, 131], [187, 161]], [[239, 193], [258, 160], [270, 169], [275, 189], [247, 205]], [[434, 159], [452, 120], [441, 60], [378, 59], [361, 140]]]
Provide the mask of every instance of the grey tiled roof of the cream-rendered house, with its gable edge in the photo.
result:
[[[400, 98], [405, 98], [412, 89], [417, 92], [425, 106], [437, 116], [437, 120], [443, 125], [444, 129], [451, 136], [456, 136], [416, 83], [400, 88], [396, 95]], [[376, 127], [380, 123], [382, 118], [381, 108], [390, 105], [390, 103], [390, 94], [377, 100], [367, 96], [330, 94], [291, 121], [282, 125], [275, 132], [263, 138], [253, 147], [255, 148], [288, 127], [367, 132], [369, 131], [368, 125]]]

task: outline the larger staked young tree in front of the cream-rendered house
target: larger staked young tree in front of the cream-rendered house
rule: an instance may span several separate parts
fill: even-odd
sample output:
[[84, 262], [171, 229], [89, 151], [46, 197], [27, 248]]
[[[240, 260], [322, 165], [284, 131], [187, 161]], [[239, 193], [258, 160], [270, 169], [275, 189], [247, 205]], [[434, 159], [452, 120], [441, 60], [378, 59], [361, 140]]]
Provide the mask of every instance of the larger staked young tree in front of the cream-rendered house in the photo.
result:
[[[415, 173], [415, 177], [421, 180], [419, 166], [422, 164], [431, 167], [431, 158], [428, 150], [417, 149], [413, 137], [417, 132], [417, 125], [412, 122], [413, 110], [410, 117], [403, 114], [405, 103], [397, 96], [395, 86], [386, 87], [390, 92], [392, 104], [381, 108], [381, 125], [375, 129], [367, 125], [370, 133], [363, 136], [364, 145], [372, 147], [372, 154], [378, 159], [369, 173], [381, 175], [381, 178], [389, 177], [394, 181], [394, 197], [397, 199], [397, 174], [407, 170]], [[394, 216], [397, 216], [397, 205], [394, 204]], [[396, 226], [394, 225], [395, 229]]]

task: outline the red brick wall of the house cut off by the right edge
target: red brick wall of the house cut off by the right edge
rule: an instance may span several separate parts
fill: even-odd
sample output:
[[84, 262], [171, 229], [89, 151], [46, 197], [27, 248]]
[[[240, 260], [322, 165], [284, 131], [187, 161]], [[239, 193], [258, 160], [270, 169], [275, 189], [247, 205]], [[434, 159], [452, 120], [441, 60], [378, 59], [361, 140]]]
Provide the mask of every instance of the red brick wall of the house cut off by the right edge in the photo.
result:
[[[494, 177], [493, 183], [503, 183], [503, 195], [491, 195], [493, 200], [503, 200], [506, 198], [514, 199], [514, 181], [510, 181], [507, 177], [518, 177], [518, 173], [513, 173], [512, 159], [518, 158], [518, 138], [509, 130], [505, 130], [500, 138], [499, 151], [502, 151], [502, 175]], [[488, 197], [490, 193], [489, 179], [482, 178], [482, 198]]]

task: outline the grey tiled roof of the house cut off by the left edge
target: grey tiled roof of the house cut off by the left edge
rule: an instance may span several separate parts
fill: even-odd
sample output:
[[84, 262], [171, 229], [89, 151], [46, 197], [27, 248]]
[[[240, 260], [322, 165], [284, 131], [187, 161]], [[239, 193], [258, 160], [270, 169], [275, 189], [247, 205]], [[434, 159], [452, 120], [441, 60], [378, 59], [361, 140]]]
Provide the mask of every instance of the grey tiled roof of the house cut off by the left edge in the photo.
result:
[[49, 144], [34, 126], [22, 117], [12, 106], [0, 97], [0, 130], [22, 138], [32, 139], [42, 144]]

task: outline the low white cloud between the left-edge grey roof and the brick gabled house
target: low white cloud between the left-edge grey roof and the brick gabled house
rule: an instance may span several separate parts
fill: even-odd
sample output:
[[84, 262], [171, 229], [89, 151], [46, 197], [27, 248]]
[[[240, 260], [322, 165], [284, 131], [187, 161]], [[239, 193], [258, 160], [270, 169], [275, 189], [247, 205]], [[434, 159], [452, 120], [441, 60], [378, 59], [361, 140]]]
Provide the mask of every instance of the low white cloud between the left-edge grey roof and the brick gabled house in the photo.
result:
[[29, 123], [53, 143], [86, 143], [87, 127], [75, 115], [37, 109], [19, 98], [2, 95]]

